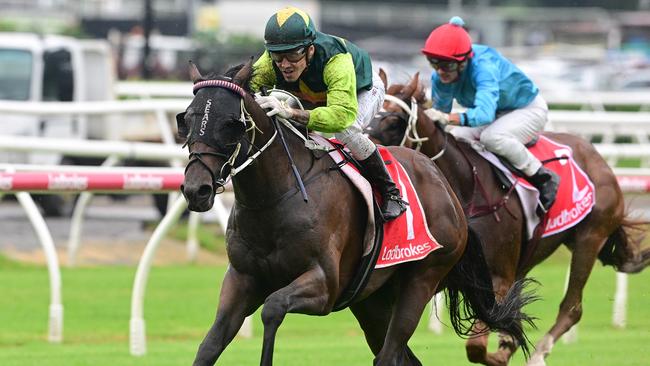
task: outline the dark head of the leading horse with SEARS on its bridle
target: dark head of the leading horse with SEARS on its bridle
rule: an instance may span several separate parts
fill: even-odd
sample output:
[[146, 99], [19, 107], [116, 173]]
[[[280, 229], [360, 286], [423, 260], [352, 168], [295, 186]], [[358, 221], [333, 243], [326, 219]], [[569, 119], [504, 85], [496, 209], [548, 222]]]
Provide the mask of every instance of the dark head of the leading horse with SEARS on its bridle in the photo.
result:
[[194, 99], [176, 116], [176, 122], [190, 152], [181, 191], [192, 211], [212, 207], [233, 168], [246, 158], [248, 123], [267, 118], [247, 91], [251, 72], [252, 62], [209, 77], [203, 77], [194, 64], [190, 66]]

